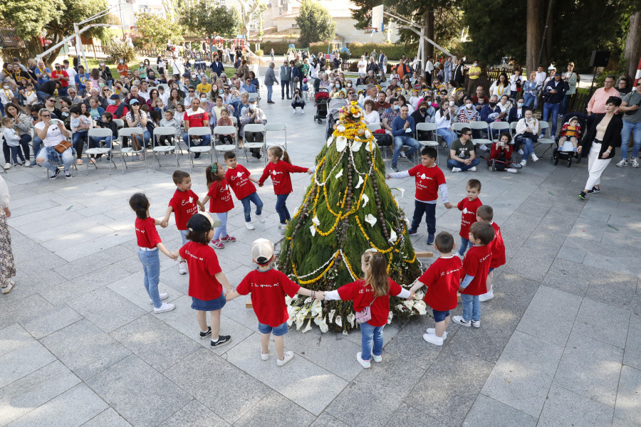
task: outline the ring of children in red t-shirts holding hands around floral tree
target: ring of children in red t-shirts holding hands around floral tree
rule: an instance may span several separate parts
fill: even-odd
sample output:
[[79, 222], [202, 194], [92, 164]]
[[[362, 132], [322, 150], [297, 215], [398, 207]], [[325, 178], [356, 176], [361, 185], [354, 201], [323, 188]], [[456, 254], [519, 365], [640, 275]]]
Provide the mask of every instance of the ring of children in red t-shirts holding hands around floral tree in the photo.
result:
[[[192, 297], [192, 309], [197, 310], [197, 322], [200, 337], [211, 335], [212, 347], [226, 344], [231, 340], [229, 335], [220, 333], [220, 313], [227, 301], [239, 295], [251, 294], [254, 312], [258, 319], [261, 333], [261, 360], [269, 359], [269, 340], [274, 336], [276, 347], [276, 364], [281, 367], [293, 358], [293, 352], [284, 349], [283, 336], [288, 332], [288, 311], [285, 295], [294, 297], [297, 293], [318, 300], [351, 300], [357, 319], [361, 319], [362, 349], [356, 359], [364, 367], [370, 367], [370, 359], [382, 362], [382, 330], [387, 325], [390, 310], [390, 295], [404, 299], [413, 299], [422, 286], [427, 286], [424, 302], [433, 310], [435, 327], [427, 329], [423, 335], [425, 341], [442, 345], [447, 338], [447, 326], [450, 320], [462, 327], [481, 327], [480, 302], [493, 297], [491, 289], [492, 270], [505, 263], [505, 246], [498, 225], [492, 221], [493, 211], [490, 206], [481, 204], [479, 194], [481, 183], [471, 179], [467, 183], [467, 196], [459, 202], [462, 211], [461, 246], [454, 253], [456, 244], [450, 233], [445, 231], [435, 234], [435, 204], [438, 191], [441, 191], [447, 209], [452, 208], [447, 198], [447, 186], [442, 171], [434, 164], [436, 152], [431, 147], [422, 150], [422, 162], [408, 172], [397, 172], [387, 175], [390, 178], [415, 176], [416, 196], [415, 214], [410, 228], [410, 235], [417, 234], [422, 215], [426, 214], [428, 242], [440, 252], [437, 260], [429, 266], [416, 283], [407, 290], [387, 276], [387, 259], [377, 251], [366, 251], [361, 257], [363, 278], [341, 286], [337, 290], [322, 292], [301, 288], [285, 274], [271, 267], [274, 259], [273, 243], [259, 238], [251, 246], [251, 257], [256, 263], [252, 270], [234, 290], [226, 279], [214, 248], [224, 248], [224, 243], [236, 241], [226, 233], [227, 213], [233, 208], [231, 190], [244, 206], [246, 225], [251, 225], [250, 203], [256, 205], [256, 216], [261, 222], [262, 202], [256, 194], [251, 181], [262, 185], [267, 176], [271, 176], [274, 191], [278, 196], [277, 211], [281, 226], [290, 219], [285, 206], [286, 197], [291, 193], [291, 172], [308, 172], [291, 165], [286, 152], [280, 147], [269, 150], [269, 165], [259, 180], [254, 179], [249, 171], [236, 163], [233, 152], [225, 154], [228, 167], [225, 172], [222, 165], [212, 164], [207, 167], [208, 193], [203, 201], [191, 190], [189, 174], [176, 171], [173, 175], [177, 190], [167, 207], [165, 218], [157, 220], [150, 217], [149, 201], [142, 193], [134, 194], [130, 206], [137, 216], [135, 231], [140, 247], [139, 258], [143, 265], [145, 289], [154, 305], [154, 312], [165, 312], [174, 309], [174, 305], [162, 302], [168, 295], [160, 293], [158, 282], [160, 260], [158, 252], [169, 258], [179, 259], [182, 270], [189, 270], [189, 296]], [[204, 204], [210, 202], [209, 212], [216, 213], [219, 221], [212, 221], [207, 216], [198, 214], [204, 211]], [[178, 251], [170, 252], [162, 244], [155, 226], [167, 226], [170, 214], [174, 212], [177, 228], [182, 236], [183, 246]], [[251, 226], [251, 227], [250, 227]], [[214, 230], [215, 228], [215, 230]], [[211, 244], [210, 244], [211, 243]], [[469, 246], [469, 251], [466, 252]], [[180, 269], [180, 267], [179, 267]], [[182, 273], [182, 274], [184, 274]], [[457, 294], [461, 295], [463, 312], [452, 317], [450, 310], [457, 307]], [[210, 312], [209, 325], [207, 312]]]

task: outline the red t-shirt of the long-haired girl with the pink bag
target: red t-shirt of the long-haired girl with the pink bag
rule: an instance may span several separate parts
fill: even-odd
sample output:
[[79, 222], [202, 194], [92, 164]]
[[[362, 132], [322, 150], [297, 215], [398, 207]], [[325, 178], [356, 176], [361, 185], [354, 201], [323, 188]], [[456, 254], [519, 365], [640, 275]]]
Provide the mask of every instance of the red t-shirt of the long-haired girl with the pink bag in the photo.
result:
[[387, 324], [387, 317], [390, 313], [390, 295], [396, 296], [403, 290], [394, 280], [387, 278], [387, 282], [390, 283], [390, 291], [387, 292], [387, 295], [377, 297], [374, 302], [372, 302], [374, 291], [363, 279], [341, 286], [338, 288], [338, 295], [343, 301], [352, 300], [355, 312], [363, 310], [372, 302], [370, 306], [372, 318], [368, 324], [374, 327], [383, 326]]

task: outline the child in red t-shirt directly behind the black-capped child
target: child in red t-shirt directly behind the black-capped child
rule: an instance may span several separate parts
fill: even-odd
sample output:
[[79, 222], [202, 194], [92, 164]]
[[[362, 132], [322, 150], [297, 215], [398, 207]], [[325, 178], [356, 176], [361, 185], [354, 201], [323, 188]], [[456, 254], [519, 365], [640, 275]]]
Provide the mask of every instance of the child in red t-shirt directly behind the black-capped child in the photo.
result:
[[[176, 227], [184, 245], [187, 243], [187, 221], [198, 212], [198, 208], [204, 211], [204, 204], [198, 200], [197, 194], [192, 191], [192, 178], [187, 172], [178, 170], [172, 174], [172, 179], [177, 189], [174, 191], [174, 196], [170, 200], [169, 206], [167, 206], [167, 212], [165, 212], [165, 218], [162, 218], [161, 225], [163, 228], [167, 226], [173, 212], [176, 219]], [[178, 273], [187, 274], [187, 263], [183, 258], [179, 258]]]

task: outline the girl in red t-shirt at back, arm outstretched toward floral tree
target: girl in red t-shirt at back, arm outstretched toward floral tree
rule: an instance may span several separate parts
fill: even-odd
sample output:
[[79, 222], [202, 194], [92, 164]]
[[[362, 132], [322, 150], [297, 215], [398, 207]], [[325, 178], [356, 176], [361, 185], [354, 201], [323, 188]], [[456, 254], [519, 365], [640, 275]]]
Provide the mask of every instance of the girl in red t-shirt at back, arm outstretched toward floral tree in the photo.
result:
[[285, 228], [287, 228], [287, 221], [291, 219], [285, 205], [287, 196], [293, 191], [289, 174], [292, 172], [307, 172], [311, 175], [314, 172], [312, 169], [291, 164], [287, 152], [277, 145], [269, 147], [267, 159], [269, 159], [269, 163], [265, 167], [261, 179], [259, 179], [259, 186], [263, 186], [267, 177], [271, 176], [273, 192], [276, 194], [276, 212], [278, 212], [278, 218], [281, 220], [281, 225], [278, 228], [284, 233]]

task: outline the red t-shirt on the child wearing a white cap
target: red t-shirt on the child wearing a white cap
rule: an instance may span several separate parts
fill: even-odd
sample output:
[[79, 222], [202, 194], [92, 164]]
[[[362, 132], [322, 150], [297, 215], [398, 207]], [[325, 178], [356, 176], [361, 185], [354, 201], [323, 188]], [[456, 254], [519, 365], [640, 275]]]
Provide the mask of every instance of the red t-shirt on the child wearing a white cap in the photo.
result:
[[267, 271], [250, 271], [236, 288], [240, 295], [251, 292], [251, 304], [259, 322], [277, 327], [287, 322], [289, 314], [285, 295], [294, 297], [301, 289], [285, 274], [271, 268]]

